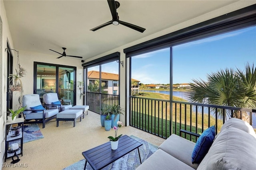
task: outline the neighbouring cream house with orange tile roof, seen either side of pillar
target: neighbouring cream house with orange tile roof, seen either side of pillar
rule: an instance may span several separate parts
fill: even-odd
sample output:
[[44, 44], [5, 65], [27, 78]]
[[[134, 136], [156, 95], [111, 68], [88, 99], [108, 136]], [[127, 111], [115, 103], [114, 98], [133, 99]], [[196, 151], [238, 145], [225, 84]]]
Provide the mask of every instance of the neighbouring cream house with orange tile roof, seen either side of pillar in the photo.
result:
[[[88, 84], [94, 83], [95, 80], [100, 79], [100, 72], [99, 71], [88, 71]], [[113, 74], [109, 72], [101, 72], [101, 81], [105, 83], [104, 89], [108, 91], [108, 94], [119, 94], [118, 86], [119, 86], [119, 75]], [[138, 84], [139, 80], [135, 80], [132, 78], [132, 81], [138, 82], [137, 86], [133, 87], [133, 90], [139, 89]]]

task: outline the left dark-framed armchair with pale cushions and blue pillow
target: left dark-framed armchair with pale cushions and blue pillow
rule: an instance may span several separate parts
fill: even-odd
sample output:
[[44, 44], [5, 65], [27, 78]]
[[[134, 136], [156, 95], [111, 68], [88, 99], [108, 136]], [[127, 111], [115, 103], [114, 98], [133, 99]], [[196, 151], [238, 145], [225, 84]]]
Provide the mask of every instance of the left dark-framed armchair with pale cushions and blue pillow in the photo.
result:
[[22, 98], [22, 107], [26, 106], [25, 111], [23, 111], [23, 117], [25, 119], [24, 124], [43, 123], [44, 128], [45, 123], [56, 118], [57, 113], [59, 113], [57, 107], [55, 109], [46, 110], [42, 106], [38, 94], [27, 94], [23, 95]]

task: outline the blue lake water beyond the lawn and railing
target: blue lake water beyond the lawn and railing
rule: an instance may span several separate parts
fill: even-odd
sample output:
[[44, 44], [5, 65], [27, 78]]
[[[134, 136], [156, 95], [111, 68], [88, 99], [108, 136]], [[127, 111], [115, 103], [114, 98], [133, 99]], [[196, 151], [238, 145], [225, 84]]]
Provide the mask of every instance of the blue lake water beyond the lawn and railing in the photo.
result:
[[[144, 90], [144, 92], [153, 92], [153, 93], [161, 93], [161, 94], [170, 95], [170, 91]], [[173, 91], [172, 95], [176, 96], [176, 97], [179, 97], [179, 98], [182, 98], [182, 99], [185, 99], [185, 100], [188, 100], [188, 98], [186, 97], [186, 93], [188, 93], [188, 92]], [[200, 110], [202, 111], [202, 108], [198, 107], [198, 111], [200, 111]], [[192, 107], [192, 111], [194, 111], [194, 112], [196, 111], [195, 106]], [[204, 108], [204, 113], [208, 113], [208, 108]], [[215, 113], [211, 112], [211, 115], [215, 115]], [[256, 114], [255, 113], [252, 113], [252, 127], [256, 128]]]

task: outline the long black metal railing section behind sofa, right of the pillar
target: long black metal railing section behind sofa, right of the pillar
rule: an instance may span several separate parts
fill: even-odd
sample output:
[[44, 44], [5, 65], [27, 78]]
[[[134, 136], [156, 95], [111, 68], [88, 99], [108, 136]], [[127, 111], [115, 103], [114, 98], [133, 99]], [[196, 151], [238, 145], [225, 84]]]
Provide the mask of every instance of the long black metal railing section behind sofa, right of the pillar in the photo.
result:
[[[256, 125], [256, 122], [253, 122], [256, 120], [252, 119], [256, 109], [179, 101], [171, 103], [172, 111], [169, 100], [130, 96], [130, 125], [164, 139], [171, 135], [171, 129], [176, 135], [180, 135], [180, 129], [200, 134], [212, 125], [215, 125], [217, 134], [230, 117], [244, 119], [250, 125]], [[197, 140], [191, 135], [182, 136], [190, 141]]]

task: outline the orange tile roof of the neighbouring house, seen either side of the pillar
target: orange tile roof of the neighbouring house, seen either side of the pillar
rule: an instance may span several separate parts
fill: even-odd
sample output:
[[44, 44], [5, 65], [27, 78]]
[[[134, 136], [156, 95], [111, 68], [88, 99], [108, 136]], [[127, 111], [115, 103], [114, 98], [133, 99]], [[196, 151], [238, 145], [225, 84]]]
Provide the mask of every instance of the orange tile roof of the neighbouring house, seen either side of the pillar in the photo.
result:
[[[91, 79], [99, 79], [100, 78], [100, 72], [99, 71], [88, 71], [88, 78]], [[118, 74], [113, 74], [109, 72], [101, 72], [101, 79], [102, 80], [118, 80]], [[135, 80], [132, 78], [132, 81], [134, 82], [140, 82], [139, 80]]]

